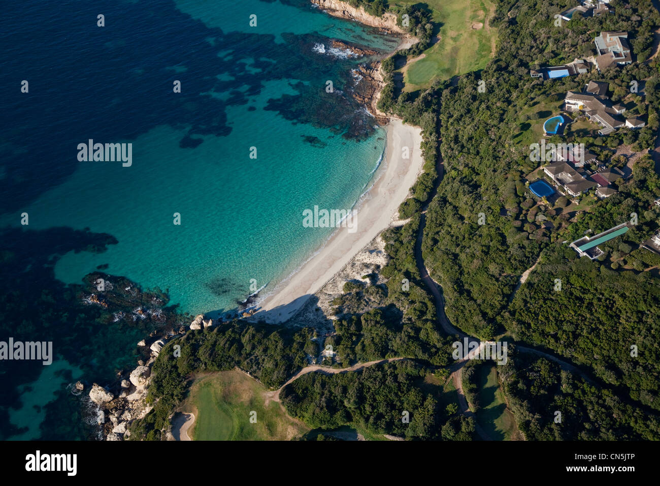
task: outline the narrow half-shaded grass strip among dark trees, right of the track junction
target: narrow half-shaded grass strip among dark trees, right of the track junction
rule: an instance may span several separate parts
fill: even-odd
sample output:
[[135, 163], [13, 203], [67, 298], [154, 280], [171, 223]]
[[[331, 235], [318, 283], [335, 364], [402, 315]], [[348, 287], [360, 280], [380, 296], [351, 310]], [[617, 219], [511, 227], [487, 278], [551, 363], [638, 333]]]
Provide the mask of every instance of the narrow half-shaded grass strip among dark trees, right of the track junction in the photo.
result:
[[494, 440], [512, 440], [519, 432], [513, 414], [506, 407], [495, 366], [483, 364], [477, 370], [480, 405], [477, 421]]

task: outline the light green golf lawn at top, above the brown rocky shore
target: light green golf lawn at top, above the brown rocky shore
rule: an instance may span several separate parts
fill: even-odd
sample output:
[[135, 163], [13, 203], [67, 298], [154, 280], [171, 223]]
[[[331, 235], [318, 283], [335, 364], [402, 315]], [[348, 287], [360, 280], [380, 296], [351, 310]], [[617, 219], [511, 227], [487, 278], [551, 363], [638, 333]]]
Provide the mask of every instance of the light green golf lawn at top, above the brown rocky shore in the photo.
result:
[[[397, 5], [414, 5], [400, 0]], [[424, 58], [405, 68], [405, 91], [416, 91], [438, 79], [478, 71], [495, 54], [497, 30], [489, 19], [495, 11], [492, 0], [428, 0], [433, 20], [440, 24], [439, 42], [424, 52]], [[437, 34], [437, 32], [436, 32]]]

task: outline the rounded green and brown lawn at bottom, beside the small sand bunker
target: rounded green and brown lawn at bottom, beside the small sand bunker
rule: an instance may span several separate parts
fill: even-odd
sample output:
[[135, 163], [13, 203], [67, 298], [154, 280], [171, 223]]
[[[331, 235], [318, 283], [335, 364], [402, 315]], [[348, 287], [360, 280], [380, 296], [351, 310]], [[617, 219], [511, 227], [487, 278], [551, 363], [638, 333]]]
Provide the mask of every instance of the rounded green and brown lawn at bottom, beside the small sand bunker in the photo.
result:
[[[194, 440], [289, 440], [308, 428], [288, 417], [271, 401], [265, 406], [267, 389], [249, 376], [232, 370], [208, 374], [191, 387], [183, 411], [195, 413]], [[250, 412], [257, 413], [256, 423]]]

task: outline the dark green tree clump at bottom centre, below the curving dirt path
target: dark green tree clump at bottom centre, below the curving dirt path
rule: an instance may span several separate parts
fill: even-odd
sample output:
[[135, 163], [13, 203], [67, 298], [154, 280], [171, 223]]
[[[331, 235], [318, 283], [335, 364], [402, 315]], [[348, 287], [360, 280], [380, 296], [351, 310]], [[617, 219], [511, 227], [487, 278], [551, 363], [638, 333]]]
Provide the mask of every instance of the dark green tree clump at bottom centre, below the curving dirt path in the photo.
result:
[[286, 411], [310, 427], [354, 425], [407, 438], [471, 440], [473, 421], [443, 410], [442, 387], [425, 386], [426, 374], [426, 368], [407, 360], [352, 373], [308, 373], [286, 385], [280, 397]]

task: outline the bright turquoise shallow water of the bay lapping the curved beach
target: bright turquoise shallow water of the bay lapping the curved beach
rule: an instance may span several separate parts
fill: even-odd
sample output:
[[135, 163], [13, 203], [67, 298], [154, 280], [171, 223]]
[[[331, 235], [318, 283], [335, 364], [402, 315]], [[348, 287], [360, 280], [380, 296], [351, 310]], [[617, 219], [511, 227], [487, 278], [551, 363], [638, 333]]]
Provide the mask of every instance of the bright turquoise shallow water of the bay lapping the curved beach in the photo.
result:
[[[273, 130], [255, 136], [263, 123]], [[132, 167], [81, 165], [67, 183], [44, 194], [28, 214], [119, 240], [100, 255], [65, 255], [55, 276], [79, 282], [109, 264], [108, 273], [168, 288], [184, 310], [231, 308], [250, 293], [251, 279], [259, 288], [275, 284], [327, 239], [331, 229], [302, 226], [302, 211], [315, 204], [350, 208], [383, 151], [381, 130], [373, 140], [344, 142], [328, 138], [327, 130], [282, 122], [273, 112], [259, 120], [245, 116], [235, 127], [228, 137], [205, 137], [194, 150], [178, 147], [182, 133], [154, 128], [135, 141]], [[327, 147], [300, 142], [309, 135]], [[256, 160], [249, 159], [249, 143], [257, 146]], [[227, 159], [232, 163], [221, 163]], [[176, 169], [165, 172], [162, 165]], [[173, 223], [176, 212], [181, 225]]]

